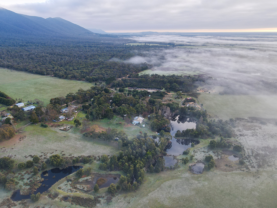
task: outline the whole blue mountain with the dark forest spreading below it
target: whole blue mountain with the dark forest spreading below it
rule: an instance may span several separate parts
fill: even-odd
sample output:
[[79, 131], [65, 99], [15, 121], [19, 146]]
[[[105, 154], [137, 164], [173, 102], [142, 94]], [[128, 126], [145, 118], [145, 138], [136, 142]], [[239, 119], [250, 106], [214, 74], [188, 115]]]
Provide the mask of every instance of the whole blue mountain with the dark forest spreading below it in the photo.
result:
[[[128, 46], [117, 35], [95, 34], [61, 18], [33, 17], [0, 9], [0, 66], [94, 82], [148, 69], [125, 62], [155, 46]], [[164, 46], [159, 46], [164, 47]]]

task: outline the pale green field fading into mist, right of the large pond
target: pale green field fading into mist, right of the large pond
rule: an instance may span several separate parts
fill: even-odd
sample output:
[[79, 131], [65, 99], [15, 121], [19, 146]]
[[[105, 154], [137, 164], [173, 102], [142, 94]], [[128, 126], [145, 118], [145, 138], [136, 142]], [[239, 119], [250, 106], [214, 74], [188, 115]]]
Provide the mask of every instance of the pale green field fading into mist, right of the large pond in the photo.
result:
[[222, 119], [247, 118], [249, 116], [276, 118], [277, 97], [269, 95], [219, 95], [201, 93], [198, 100], [212, 116]]

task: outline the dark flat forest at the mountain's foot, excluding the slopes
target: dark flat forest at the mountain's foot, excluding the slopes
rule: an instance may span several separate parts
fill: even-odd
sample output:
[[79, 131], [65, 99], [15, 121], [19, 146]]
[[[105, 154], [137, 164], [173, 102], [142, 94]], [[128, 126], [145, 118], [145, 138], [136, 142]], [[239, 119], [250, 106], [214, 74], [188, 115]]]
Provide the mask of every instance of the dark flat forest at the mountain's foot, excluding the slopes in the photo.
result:
[[0, 39], [0, 66], [50, 75], [63, 79], [85, 79], [88, 82], [121, 78], [149, 69], [147, 63], [127, 60], [145, 56], [145, 51], [169, 46], [124, 45], [127, 39], [112, 35], [87, 37], [32, 37], [16, 35]]

